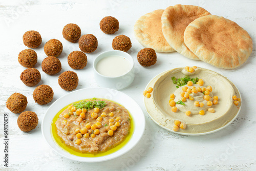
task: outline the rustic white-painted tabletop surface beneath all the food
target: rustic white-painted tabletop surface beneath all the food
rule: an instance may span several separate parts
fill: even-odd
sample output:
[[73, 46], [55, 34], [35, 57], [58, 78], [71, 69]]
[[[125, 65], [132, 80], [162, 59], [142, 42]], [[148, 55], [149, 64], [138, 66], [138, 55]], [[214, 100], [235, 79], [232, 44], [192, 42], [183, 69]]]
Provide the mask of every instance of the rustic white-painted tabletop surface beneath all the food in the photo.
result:
[[[218, 69], [202, 61], [187, 59], [178, 53], [157, 53], [156, 65], [143, 68], [137, 62], [137, 53], [143, 47], [133, 35], [133, 25], [143, 14], [156, 9], [165, 9], [175, 4], [197, 5], [211, 14], [224, 16], [237, 22], [250, 34], [255, 45], [256, 1], [1, 1], [0, 2], [0, 170], [256, 170], [256, 77], [255, 48], [248, 60], [233, 70]], [[99, 22], [104, 16], [119, 20], [120, 29], [114, 35], [101, 32]], [[123, 93], [134, 98], [141, 106], [146, 128], [141, 141], [129, 153], [106, 162], [82, 163], [63, 158], [48, 146], [41, 134], [41, 122], [48, 107], [56, 99], [69, 92], [58, 86], [57, 78], [63, 71], [71, 70], [67, 56], [79, 50], [78, 43], [72, 44], [62, 37], [62, 28], [76, 23], [82, 34], [94, 34], [98, 49], [87, 54], [88, 65], [75, 70], [79, 77], [78, 89], [97, 86], [93, 78], [92, 63], [96, 55], [112, 50], [115, 36], [124, 34], [132, 40], [128, 52], [135, 60], [136, 78]], [[27, 87], [19, 79], [26, 68], [19, 65], [18, 53], [24, 46], [22, 36], [28, 30], [37, 30], [42, 44], [35, 51], [38, 62], [35, 66], [41, 73], [39, 84], [53, 88], [54, 99], [47, 105], [38, 105], [32, 98], [35, 87]], [[49, 76], [41, 70], [41, 61], [46, 57], [44, 44], [51, 38], [59, 39], [63, 52], [58, 57], [62, 63], [59, 74]], [[255, 46], [254, 46], [255, 47]], [[227, 47], [228, 48], [228, 47]], [[144, 90], [148, 81], [157, 74], [172, 68], [199, 66], [223, 74], [230, 79], [242, 94], [242, 110], [236, 120], [224, 130], [205, 136], [181, 136], [163, 130], [145, 112]], [[5, 106], [7, 98], [14, 92], [27, 96], [26, 111], [34, 111], [39, 118], [35, 130], [24, 133], [18, 129], [18, 114], [11, 113]], [[86, 97], [85, 97], [86, 98]], [[60, 107], [61, 108], [61, 107]], [[9, 167], [3, 163], [3, 114], [9, 115]], [[144, 151], [144, 153], [138, 153]]]

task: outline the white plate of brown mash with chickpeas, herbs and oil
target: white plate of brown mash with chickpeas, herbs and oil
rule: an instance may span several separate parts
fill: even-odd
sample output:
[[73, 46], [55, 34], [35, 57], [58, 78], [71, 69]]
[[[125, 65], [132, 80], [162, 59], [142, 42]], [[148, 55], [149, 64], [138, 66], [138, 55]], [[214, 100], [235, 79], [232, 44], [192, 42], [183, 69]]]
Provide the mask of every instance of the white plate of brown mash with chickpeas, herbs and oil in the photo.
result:
[[140, 140], [145, 118], [126, 94], [106, 88], [81, 89], [57, 99], [42, 121], [42, 135], [58, 154], [101, 162], [130, 151]]

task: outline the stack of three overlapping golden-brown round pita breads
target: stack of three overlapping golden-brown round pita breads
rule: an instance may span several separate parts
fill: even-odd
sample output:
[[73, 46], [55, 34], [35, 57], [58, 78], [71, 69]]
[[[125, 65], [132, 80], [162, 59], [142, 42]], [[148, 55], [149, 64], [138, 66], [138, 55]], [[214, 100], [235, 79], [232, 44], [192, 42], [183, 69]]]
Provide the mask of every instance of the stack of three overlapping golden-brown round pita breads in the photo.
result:
[[134, 26], [141, 45], [156, 52], [177, 51], [224, 69], [237, 68], [252, 51], [252, 39], [238, 24], [205, 9], [175, 5], [141, 16]]

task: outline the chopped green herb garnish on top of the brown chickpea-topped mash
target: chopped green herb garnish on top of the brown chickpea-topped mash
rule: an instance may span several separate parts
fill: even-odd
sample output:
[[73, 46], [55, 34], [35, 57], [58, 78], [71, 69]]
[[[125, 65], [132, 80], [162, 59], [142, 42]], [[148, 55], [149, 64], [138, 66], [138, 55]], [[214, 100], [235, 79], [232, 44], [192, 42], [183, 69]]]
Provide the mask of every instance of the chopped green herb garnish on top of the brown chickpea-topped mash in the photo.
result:
[[96, 101], [96, 98], [92, 98], [91, 100], [92, 101], [81, 101], [79, 103], [73, 103], [73, 105], [76, 107], [76, 109], [85, 108], [87, 110], [90, 110], [93, 108], [102, 109], [106, 105], [105, 101]]

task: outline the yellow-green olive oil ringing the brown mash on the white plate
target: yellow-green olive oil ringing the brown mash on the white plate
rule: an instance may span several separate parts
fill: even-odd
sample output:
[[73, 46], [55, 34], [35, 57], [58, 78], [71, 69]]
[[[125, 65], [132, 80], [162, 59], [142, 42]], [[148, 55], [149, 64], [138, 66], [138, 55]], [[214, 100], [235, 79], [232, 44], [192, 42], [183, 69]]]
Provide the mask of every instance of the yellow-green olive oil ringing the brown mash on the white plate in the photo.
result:
[[[90, 100], [90, 99], [85, 99], [85, 100]], [[80, 101], [83, 101], [83, 100], [79, 100], [79, 101], [76, 101], [76, 102], [73, 102], [73, 103], [78, 103]], [[111, 100], [109, 100], [111, 101]], [[114, 101], [112, 101], [114, 102]], [[71, 104], [73, 104], [71, 103]], [[114, 102], [114, 103], [117, 103], [117, 102]], [[69, 104], [69, 105], [71, 105]], [[118, 103], [117, 103], [118, 104]], [[115, 147], [109, 149], [108, 151], [105, 151], [105, 152], [101, 152], [101, 153], [97, 153], [97, 154], [89, 154], [89, 153], [82, 153], [81, 151], [79, 151], [77, 148], [73, 147], [73, 146], [70, 146], [70, 145], [67, 145], [65, 143], [65, 141], [62, 140], [61, 137], [58, 136], [58, 133], [57, 133], [57, 128], [56, 128], [56, 125], [55, 125], [55, 122], [56, 120], [59, 118], [59, 114], [61, 114], [65, 109], [68, 108], [68, 106], [65, 106], [64, 108], [62, 108], [53, 118], [52, 120], [52, 124], [51, 124], [51, 135], [52, 135], [52, 138], [53, 140], [55, 141], [55, 143], [60, 147], [62, 148], [64, 151], [72, 154], [72, 155], [75, 155], [75, 156], [80, 156], [80, 157], [101, 157], [101, 156], [106, 156], [106, 155], [110, 155], [116, 151], [118, 151], [119, 149], [121, 149], [123, 146], [125, 146], [125, 144], [127, 142], [130, 141], [130, 139], [132, 138], [133, 136], [133, 133], [134, 133], [134, 123], [133, 123], [133, 119], [130, 115], [130, 130], [129, 130], [129, 134], [126, 136], [126, 138], [120, 142], [119, 144], [117, 144]], [[120, 105], [120, 104], [119, 104]]]

